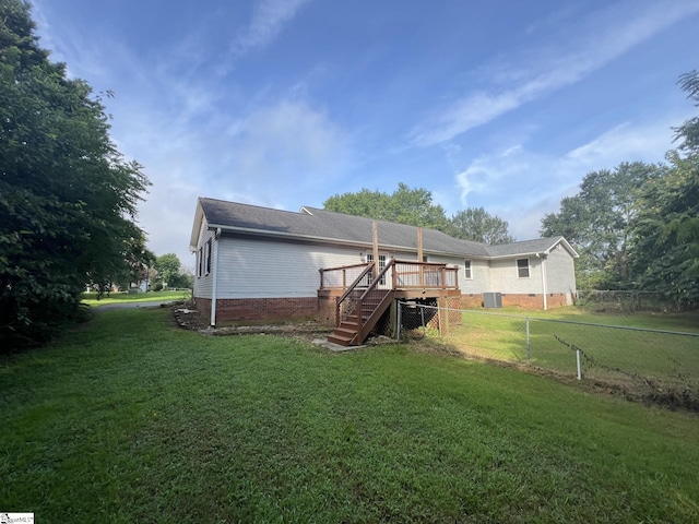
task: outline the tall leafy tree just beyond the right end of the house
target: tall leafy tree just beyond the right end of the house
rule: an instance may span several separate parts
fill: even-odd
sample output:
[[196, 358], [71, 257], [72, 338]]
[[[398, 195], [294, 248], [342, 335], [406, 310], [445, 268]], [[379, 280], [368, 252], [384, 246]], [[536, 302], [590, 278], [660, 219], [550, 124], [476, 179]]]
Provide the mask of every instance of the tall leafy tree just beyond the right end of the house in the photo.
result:
[[621, 163], [614, 170], [589, 172], [578, 194], [561, 200], [559, 213], [544, 216], [540, 233], [545, 237], [561, 235], [580, 252], [580, 287], [633, 285], [628, 257], [637, 201], [641, 187], [662, 176], [664, 169], [633, 162]]

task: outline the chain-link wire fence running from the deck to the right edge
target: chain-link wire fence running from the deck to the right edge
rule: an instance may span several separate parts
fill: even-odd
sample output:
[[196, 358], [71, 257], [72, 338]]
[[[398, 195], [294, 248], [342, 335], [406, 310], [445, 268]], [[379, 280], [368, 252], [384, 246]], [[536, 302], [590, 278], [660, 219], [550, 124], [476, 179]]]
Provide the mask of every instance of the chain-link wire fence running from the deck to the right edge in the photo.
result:
[[629, 397], [699, 410], [699, 333], [399, 303], [399, 337], [594, 381]]

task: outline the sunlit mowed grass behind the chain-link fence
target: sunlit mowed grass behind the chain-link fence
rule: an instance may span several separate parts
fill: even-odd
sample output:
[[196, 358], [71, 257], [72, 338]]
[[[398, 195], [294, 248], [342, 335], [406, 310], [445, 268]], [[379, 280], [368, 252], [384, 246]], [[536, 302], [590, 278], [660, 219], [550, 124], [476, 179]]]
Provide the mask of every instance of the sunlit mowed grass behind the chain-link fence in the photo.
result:
[[699, 334], [696, 312], [617, 315], [574, 308], [529, 314], [466, 311], [462, 324], [451, 326], [446, 341], [471, 355], [526, 362], [526, 317], [529, 362], [533, 366], [574, 374], [574, 346], [583, 352], [587, 378], [640, 383], [650, 380], [675, 389], [688, 388], [699, 398], [699, 336], [677, 333]]

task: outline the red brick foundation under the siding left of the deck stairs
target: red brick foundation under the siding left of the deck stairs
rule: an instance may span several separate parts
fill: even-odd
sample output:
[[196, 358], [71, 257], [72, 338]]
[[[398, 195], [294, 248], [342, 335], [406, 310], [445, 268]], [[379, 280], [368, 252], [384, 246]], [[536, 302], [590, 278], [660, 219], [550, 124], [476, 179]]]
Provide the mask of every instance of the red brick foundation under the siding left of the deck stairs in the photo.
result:
[[[211, 317], [211, 299], [197, 298], [197, 310]], [[216, 300], [216, 323], [235, 321], [284, 321], [316, 319], [318, 299], [300, 298], [222, 298]]]

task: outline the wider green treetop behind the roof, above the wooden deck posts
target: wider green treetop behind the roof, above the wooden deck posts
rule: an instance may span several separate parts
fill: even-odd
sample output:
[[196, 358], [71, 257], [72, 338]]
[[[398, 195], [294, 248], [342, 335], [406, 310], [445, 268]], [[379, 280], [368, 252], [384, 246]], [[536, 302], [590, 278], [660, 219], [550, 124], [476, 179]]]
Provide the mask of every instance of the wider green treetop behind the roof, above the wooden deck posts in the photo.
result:
[[336, 213], [366, 216], [378, 221], [395, 222], [411, 226], [447, 230], [448, 221], [441, 205], [433, 203], [433, 193], [423, 188], [411, 189], [400, 182], [398, 189], [388, 194], [364, 188], [357, 193], [335, 194], [323, 207]]

